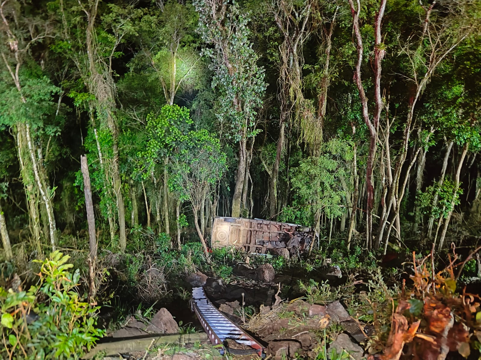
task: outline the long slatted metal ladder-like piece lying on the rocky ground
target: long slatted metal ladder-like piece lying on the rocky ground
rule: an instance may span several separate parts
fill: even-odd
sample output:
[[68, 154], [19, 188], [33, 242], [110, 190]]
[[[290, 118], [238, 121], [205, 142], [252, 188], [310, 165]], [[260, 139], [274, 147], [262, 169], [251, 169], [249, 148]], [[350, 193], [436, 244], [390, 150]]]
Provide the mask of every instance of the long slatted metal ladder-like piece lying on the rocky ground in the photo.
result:
[[[257, 354], [264, 358], [264, 348], [239, 326], [215, 308], [205, 296], [204, 289], [192, 288], [193, 310], [213, 345], [222, 345], [221, 354], [227, 350], [235, 355]], [[229, 346], [230, 343], [230, 346]]]

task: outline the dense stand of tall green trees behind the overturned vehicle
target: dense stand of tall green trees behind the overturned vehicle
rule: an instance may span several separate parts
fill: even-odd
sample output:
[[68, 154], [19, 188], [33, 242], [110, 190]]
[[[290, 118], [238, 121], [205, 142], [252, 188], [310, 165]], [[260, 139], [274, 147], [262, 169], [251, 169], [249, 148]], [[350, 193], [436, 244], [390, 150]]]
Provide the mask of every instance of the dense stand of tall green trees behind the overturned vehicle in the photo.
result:
[[480, 1], [3, 0], [0, 20], [6, 260], [88, 248], [84, 155], [115, 252], [190, 226], [207, 253], [215, 216], [348, 251], [479, 235]]

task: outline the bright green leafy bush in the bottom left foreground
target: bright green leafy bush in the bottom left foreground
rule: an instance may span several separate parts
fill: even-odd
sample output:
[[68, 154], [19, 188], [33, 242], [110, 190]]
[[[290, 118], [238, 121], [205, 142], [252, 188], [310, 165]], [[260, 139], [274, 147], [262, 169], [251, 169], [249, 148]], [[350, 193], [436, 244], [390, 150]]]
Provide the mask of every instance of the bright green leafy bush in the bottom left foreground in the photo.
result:
[[81, 301], [76, 291], [80, 272], [68, 271], [73, 267], [69, 258], [56, 251], [43, 262], [34, 260], [41, 269], [38, 284], [28, 291], [0, 288], [0, 358], [78, 359], [104, 335], [96, 328], [100, 307]]

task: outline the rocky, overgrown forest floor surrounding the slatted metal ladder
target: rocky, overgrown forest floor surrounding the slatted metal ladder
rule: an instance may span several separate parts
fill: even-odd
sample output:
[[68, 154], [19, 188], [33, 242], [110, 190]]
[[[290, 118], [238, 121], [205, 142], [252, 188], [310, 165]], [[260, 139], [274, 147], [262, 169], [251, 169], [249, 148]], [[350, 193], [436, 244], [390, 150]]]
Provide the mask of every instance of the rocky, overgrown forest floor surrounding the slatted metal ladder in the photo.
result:
[[[232, 358], [207, 342], [191, 311], [188, 277], [202, 272], [214, 306], [265, 345], [271, 359], [481, 359], [481, 276], [471, 249], [462, 255], [397, 249], [385, 256], [355, 244], [350, 253], [342, 249], [343, 239], [334, 238], [290, 259], [222, 248], [208, 262], [199, 242], [177, 250], [166, 237], [143, 236], [126, 254], [103, 250], [95, 276], [97, 327], [106, 330], [99, 343], [180, 334], [144, 341], [115, 359]], [[73, 268], [87, 274], [86, 252], [67, 253]], [[27, 288], [38, 266], [25, 259], [9, 272], [17, 271]], [[86, 279], [79, 294], [87, 292]]]

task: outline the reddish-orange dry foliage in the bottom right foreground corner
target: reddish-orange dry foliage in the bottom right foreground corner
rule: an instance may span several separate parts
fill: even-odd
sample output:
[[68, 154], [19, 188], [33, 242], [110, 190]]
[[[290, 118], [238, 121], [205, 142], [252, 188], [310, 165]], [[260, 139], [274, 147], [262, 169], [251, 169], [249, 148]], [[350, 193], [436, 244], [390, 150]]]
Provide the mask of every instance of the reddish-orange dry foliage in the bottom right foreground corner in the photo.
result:
[[462, 264], [454, 264], [454, 254], [445, 269], [430, 272], [426, 260], [431, 256], [432, 252], [416, 262], [413, 253], [414, 284], [409, 290], [403, 284], [383, 352], [370, 355], [369, 360], [398, 360], [403, 350], [417, 360], [444, 360], [449, 351], [458, 351], [466, 358], [471, 335], [480, 338], [481, 299], [464, 290], [456, 293], [454, 269]]

